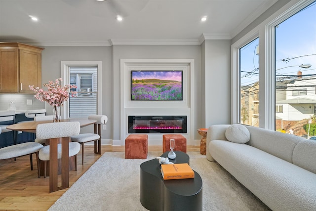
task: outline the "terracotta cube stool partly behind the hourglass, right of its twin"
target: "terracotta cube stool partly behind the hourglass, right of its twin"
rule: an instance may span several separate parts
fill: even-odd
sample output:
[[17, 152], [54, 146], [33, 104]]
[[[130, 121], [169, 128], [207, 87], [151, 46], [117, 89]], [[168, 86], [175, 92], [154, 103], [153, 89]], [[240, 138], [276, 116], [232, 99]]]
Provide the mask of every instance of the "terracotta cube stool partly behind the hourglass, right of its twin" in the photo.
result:
[[181, 134], [162, 135], [162, 152], [170, 151], [170, 139], [174, 139], [173, 151], [187, 153], [187, 139]]

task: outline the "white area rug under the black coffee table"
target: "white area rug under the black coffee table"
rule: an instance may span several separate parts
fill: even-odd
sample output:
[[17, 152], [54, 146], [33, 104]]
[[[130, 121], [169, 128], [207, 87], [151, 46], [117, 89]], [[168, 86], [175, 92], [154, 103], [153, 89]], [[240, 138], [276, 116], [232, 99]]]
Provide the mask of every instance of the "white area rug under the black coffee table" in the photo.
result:
[[[124, 152], [106, 152], [49, 211], [146, 211], [139, 200], [140, 164], [148, 159], [125, 159]], [[188, 152], [190, 166], [203, 180], [204, 211], [269, 210], [217, 163], [199, 152]]]

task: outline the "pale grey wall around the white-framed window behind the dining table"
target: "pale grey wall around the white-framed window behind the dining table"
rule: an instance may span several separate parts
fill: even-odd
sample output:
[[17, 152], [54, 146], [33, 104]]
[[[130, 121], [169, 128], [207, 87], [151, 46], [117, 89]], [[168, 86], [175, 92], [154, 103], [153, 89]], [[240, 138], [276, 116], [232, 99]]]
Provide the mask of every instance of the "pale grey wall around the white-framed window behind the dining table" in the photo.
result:
[[[102, 130], [102, 139], [111, 139], [112, 93], [111, 47], [44, 47], [42, 51], [42, 84], [60, 78], [61, 61], [102, 61], [102, 114], [108, 117], [107, 130]], [[46, 104], [47, 114], [52, 110]], [[93, 131], [93, 126], [83, 127], [82, 132]]]

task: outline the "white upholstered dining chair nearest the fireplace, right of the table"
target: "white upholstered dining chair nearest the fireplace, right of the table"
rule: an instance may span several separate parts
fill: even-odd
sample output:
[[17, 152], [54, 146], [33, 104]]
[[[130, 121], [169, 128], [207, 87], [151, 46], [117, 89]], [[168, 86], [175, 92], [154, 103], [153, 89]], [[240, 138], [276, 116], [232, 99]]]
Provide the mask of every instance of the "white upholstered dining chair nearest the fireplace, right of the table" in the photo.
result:
[[76, 136], [71, 136], [71, 141], [81, 144], [81, 163], [83, 165], [84, 143], [94, 141], [94, 153], [101, 155], [101, 125], [108, 122], [108, 117], [105, 115], [90, 115], [89, 120], [96, 120], [94, 123], [94, 133], [81, 133]]

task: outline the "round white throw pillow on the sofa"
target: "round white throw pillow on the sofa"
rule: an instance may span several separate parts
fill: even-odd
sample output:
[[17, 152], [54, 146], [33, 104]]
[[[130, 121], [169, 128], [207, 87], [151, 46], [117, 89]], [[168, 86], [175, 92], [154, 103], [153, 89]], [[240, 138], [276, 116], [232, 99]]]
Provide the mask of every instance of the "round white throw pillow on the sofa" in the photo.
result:
[[225, 131], [227, 140], [239, 144], [244, 144], [250, 140], [249, 130], [239, 124], [231, 125]]

